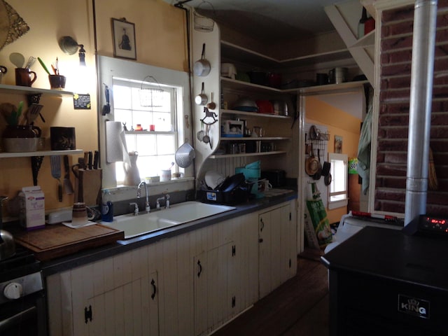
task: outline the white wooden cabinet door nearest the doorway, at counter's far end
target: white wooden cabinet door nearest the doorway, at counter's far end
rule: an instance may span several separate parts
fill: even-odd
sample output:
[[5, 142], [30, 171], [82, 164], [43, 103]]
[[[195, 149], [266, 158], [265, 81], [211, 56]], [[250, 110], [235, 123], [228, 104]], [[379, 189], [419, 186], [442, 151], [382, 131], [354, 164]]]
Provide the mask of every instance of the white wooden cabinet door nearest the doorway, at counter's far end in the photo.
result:
[[295, 275], [295, 223], [288, 205], [270, 209], [258, 216], [259, 295], [265, 297]]

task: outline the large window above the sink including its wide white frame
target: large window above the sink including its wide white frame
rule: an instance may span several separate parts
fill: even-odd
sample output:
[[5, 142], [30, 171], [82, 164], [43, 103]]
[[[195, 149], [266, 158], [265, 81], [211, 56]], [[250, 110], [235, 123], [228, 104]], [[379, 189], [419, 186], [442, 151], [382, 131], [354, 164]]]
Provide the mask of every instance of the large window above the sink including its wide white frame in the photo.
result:
[[[146, 177], [160, 175], [161, 169], [169, 169], [177, 148], [185, 141], [192, 141], [191, 132], [191, 97], [190, 76], [188, 72], [160, 68], [149, 64], [131, 62], [115, 57], [98, 57], [98, 83], [107, 85], [110, 90], [111, 111], [99, 116], [99, 141], [102, 148], [102, 187], [111, 190], [118, 188], [116, 199], [134, 197], [134, 190], [128, 186], [123, 188], [125, 171], [123, 161], [109, 161], [108, 148], [122, 146], [119, 135], [106, 137], [106, 123], [108, 120], [125, 123], [127, 131], [124, 132], [127, 151], [137, 151], [137, 167], [142, 181]], [[146, 91], [148, 99], [142, 104], [140, 91]], [[160, 93], [160, 94], [159, 94]], [[99, 95], [99, 106], [106, 104], [106, 94]], [[99, 111], [101, 111], [101, 107]], [[136, 130], [137, 124], [141, 131]], [[150, 125], [154, 125], [151, 131]], [[108, 142], [109, 141], [109, 142]], [[113, 153], [115, 154], [115, 153]], [[170, 182], [161, 182], [165, 190], [189, 190], [194, 183], [194, 166], [180, 168], [172, 167], [172, 172], [181, 173], [182, 179]], [[153, 183], [151, 183], [153, 184]], [[158, 186], [160, 183], [154, 183]], [[172, 184], [173, 186], [169, 186]], [[160, 187], [162, 188], [162, 187]], [[120, 191], [121, 190], [121, 191]], [[126, 190], [132, 190], [127, 194]], [[123, 192], [123, 195], [121, 194]], [[120, 198], [121, 197], [121, 198]]]

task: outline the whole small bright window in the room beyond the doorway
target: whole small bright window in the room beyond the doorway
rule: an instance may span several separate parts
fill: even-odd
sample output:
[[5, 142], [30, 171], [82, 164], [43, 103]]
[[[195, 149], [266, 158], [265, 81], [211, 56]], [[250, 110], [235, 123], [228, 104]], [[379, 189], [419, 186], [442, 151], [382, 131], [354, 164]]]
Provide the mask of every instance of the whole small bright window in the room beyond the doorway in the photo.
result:
[[348, 203], [348, 161], [346, 154], [328, 153], [332, 181], [328, 189], [328, 209], [346, 207]]

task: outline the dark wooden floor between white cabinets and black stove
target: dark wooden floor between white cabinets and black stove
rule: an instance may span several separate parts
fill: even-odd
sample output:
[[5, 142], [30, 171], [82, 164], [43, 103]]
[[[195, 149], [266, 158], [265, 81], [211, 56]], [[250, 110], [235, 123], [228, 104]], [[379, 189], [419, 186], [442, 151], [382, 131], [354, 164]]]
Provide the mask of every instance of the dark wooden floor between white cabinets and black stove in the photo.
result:
[[293, 279], [213, 336], [328, 336], [327, 269], [318, 261], [318, 255], [305, 257], [297, 259]]

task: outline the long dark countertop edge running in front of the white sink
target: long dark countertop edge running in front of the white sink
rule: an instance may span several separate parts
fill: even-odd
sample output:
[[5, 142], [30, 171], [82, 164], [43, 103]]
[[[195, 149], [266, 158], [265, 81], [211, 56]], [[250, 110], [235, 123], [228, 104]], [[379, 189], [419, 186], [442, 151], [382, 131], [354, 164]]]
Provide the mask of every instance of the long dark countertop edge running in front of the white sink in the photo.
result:
[[288, 202], [296, 198], [297, 198], [297, 191], [288, 190], [287, 193], [277, 195], [274, 197], [264, 197], [258, 200], [252, 200], [250, 202], [246, 202], [244, 204], [234, 205], [234, 207], [236, 207], [237, 209], [222, 214], [217, 214], [215, 216], [203, 218], [198, 221], [176, 225], [172, 228], [167, 228], [164, 230], [148, 233], [147, 235], [141, 235], [139, 237], [133, 237], [126, 240], [120, 240], [117, 241], [115, 244], [109, 244], [98, 248], [90, 248], [88, 250], [75, 253], [73, 255], [67, 255], [66, 257], [44, 261], [42, 262], [43, 275], [49, 276], [51, 274], [64, 272], [67, 269], [85, 265], [89, 262], [109, 258], [113, 255], [124, 253], [134, 248], [139, 248], [141, 246], [153, 244], [156, 241], [160, 241], [161, 239], [167, 239], [171, 237], [176, 237], [178, 235], [183, 235], [186, 232], [198, 230], [208, 225], [213, 225], [216, 223], [220, 223], [222, 221], [227, 221], [229, 219], [239, 217], [245, 214], [250, 214], [251, 212], [254, 211], [267, 209], [269, 207], [275, 206], [276, 204]]

